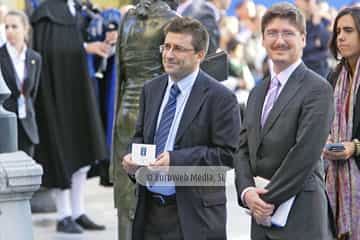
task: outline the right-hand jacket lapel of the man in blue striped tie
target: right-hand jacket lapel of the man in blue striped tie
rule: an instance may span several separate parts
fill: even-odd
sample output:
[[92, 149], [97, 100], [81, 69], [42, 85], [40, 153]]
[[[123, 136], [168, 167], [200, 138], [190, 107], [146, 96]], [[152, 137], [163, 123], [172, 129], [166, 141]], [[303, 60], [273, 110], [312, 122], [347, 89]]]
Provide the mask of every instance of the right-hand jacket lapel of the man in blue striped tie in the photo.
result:
[[176, 133], [175, 144], [177, 144], [181, 137], [184, 135], [185, 130], [189, 127], [190, 123], [196, 116], [196, 113], [199, 111], [201, 105], [203, 104], [207, 96], [205, 94], [207, 88], [207, 79], [205, 78], [204, 73], [200, 70], [195, 80], [194, 86], [191, 90], [190, 96], [186, 102], [185, 109], [180, 120], [179, 128]]

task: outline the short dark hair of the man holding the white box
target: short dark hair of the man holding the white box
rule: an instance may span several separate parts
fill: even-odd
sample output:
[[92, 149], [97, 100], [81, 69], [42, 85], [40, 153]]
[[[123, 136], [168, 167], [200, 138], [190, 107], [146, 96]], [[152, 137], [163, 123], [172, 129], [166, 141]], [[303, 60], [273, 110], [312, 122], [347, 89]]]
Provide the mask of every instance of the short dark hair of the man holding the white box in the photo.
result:
[[166, 25], [164, 32], [165, 35], [169, 32], [191, 35], [195, 52], [204, 50], [206, 54], [209, 48], [209, 33], [204, 25], [196, 19], [190, 17], [175, 17]]

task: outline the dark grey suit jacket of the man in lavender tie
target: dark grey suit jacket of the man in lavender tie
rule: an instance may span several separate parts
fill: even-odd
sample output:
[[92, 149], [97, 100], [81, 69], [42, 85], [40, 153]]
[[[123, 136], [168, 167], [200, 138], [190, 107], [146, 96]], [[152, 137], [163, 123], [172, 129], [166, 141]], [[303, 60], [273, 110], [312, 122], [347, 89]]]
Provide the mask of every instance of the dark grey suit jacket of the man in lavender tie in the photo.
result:
[[254, 185], [253, 176], [269, 179], [262, 199], [279, 206], [296, 200], [284, 228], [252, 222], [251, 237], [265, 239], [331, 239], [331, 213], [320, 155], [329, 135], [334, 104], [332, 90], [323, 78], [301, 64], [290, 76], [263, 128], [263, 102], [270, 78], [251, 92], [235, 161], [240, 194]]

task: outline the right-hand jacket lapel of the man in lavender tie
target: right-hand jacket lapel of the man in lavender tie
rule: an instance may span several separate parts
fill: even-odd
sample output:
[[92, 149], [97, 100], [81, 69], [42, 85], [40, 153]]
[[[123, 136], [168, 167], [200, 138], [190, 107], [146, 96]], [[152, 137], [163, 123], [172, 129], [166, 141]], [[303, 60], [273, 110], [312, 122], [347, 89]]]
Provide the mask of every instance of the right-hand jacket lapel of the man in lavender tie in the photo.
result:
[[265, 122], [265, 125], [261, 131], [261, 139], [265, 134], [271, 129], [272, 125], [279, 117], [281, 111], [284, 107], [290, 102], [290, 99], [296, 94], [301, 82], [304, 78], [304, 72], [306, 71], [305, 65], [301, 63], [299, 67], [290, 75], [285, 87], [281, 91], [277, 101], [275, 102], [272, 110], [269, 113], [269, 116]]

